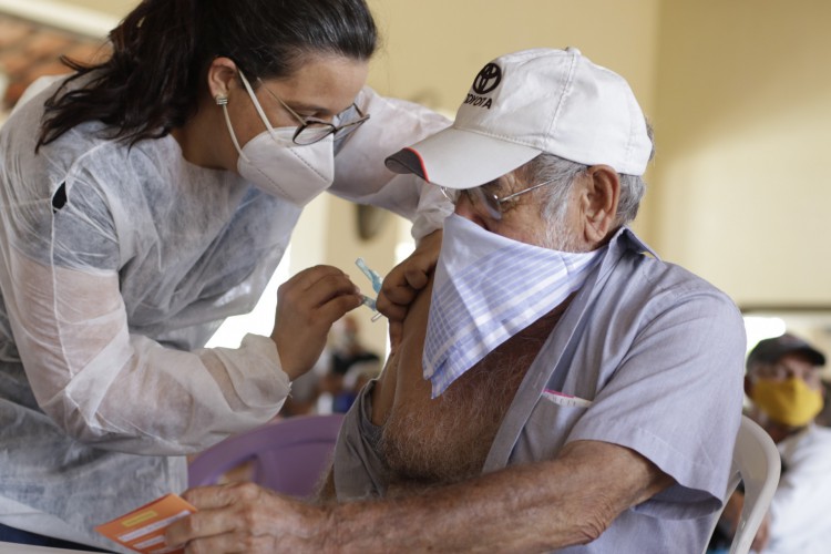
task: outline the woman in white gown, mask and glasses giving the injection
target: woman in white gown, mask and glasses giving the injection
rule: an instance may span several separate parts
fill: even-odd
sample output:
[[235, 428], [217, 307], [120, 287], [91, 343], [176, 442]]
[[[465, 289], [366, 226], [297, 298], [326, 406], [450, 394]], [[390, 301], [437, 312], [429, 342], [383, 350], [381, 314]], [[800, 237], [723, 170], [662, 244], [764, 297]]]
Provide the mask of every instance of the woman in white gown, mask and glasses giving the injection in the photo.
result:
[[94, 525], [277, 413], [360, 305], [345, 274], [284, 284], [270, 337], [203, 347], [255, 305], [315, 196], [390, 208], [417, 238], [447, 209], [382, 163], [447, 122], [365, 86], [363, 0], [145, 0], [110, 39], [0, 130], [2, 541], [112, 550]]

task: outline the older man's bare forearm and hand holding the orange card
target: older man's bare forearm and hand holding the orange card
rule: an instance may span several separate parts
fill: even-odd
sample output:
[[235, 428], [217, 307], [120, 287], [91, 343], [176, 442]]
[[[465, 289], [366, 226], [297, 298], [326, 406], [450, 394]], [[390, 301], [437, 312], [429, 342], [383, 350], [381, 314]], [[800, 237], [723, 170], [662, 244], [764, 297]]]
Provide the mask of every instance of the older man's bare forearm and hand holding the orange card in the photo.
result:
[[671, 484], [640, 454], [577, 441], [552, 461], [411, 496], [314, 506], [257, 485], [185, 493], [199, 512], [167, 532], [188, 552], [523, 551], [584, 544]]

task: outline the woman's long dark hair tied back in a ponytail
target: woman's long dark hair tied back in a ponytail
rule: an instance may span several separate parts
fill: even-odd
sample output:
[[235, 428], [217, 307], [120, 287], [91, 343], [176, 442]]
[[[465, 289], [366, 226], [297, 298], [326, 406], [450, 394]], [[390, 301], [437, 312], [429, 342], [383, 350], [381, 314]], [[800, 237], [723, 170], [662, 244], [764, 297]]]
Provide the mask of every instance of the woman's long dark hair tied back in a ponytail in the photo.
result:
[[131, 145], [165, 136], [196, 112], [216, 57], [252, 81], [284, 78], [309, 54], [368, 60], [377, 30], [365, 0], [144, 0], [110, 42], [102, 63], [62, 59], [76, 73], [47, 101], [38, 147], [88, 121]]

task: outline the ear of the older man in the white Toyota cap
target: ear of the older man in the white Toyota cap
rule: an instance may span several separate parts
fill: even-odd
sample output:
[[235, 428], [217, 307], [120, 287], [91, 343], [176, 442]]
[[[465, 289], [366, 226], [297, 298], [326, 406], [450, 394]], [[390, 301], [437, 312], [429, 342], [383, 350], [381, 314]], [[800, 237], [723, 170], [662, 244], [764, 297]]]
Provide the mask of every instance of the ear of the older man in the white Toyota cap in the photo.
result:
[[579, 194], [583, 235], [589, 244], [605, 240], [617, 222], [620, 178], [608, 165], [593, 165], [583, 178]]

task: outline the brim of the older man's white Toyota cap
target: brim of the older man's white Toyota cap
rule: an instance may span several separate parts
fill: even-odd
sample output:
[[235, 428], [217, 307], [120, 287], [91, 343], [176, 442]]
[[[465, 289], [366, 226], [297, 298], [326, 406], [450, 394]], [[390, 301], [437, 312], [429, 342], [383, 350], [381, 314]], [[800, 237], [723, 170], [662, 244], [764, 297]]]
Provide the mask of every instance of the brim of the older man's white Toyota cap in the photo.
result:
[[449, 188], [473, 188], [512, 172], [541, 154], [531, 146], [449, 127], [389, 156], [396, 173], [414, 173]]

